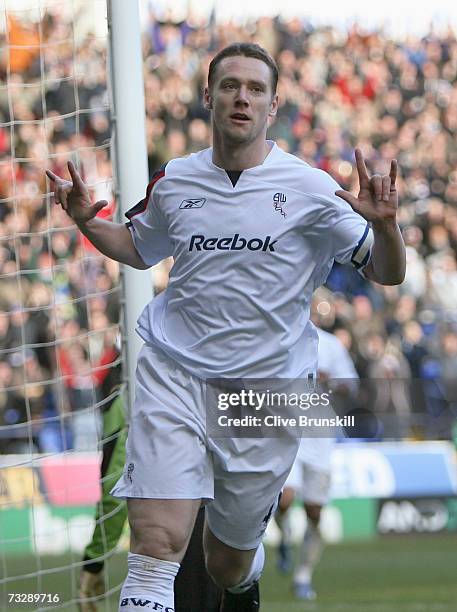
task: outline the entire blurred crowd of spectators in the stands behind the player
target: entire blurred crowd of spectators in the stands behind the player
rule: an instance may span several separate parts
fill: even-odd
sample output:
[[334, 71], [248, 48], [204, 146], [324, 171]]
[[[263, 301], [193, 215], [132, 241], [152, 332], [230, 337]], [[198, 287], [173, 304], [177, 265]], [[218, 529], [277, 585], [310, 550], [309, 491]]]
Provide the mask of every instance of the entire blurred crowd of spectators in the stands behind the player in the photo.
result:
[[[241, 27], [214, 15], [174, 23], [151, 14], [143, 37], [151, 174], [210, 145], [208, 64], [237, 40], [260, 43], [278, 62], [280, 109], [269, 137], [283, 149], [350, 190], [356, 145], [373, 172], [398, 159], [405, 282], [380, 287], [336, 265], [316, 295], [315, 318], [340, 337], [362, 378], [393, 381], [378, 408], [401, 417], [398, 436], [449, 436], [457, 405], [455, 34], [394, 41], [299, 19]], [[117, 264], [53, 206], [44, 168], [65, 175], [76, 159], [113, 214], [106, 40], [88, 32], [75, 41], [72, 24], [53, 12], [38, 24], [11, 17], [0, 46], [0, 451], [17, 448], [23, 423], [32, 423], [38, 450], [58, 450], [77, 445], [67, 417], [103, 402], [120, 284]], [[156, 291], [170, 266], [156, 267]]]

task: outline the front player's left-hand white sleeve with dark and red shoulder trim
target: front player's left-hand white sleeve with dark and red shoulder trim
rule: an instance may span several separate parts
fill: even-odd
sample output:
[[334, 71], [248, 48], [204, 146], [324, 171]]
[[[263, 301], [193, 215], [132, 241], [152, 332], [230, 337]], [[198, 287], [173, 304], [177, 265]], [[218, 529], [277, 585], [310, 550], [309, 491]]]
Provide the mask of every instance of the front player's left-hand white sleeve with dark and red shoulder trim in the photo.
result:
[[173, 244], [159, 205], [159, 182], [164, 176], [163, 166], [153, 175], [145, 198], [125, 213], [135, 248], [144, 263], [149, 266], [154, 266], [173, 254]]

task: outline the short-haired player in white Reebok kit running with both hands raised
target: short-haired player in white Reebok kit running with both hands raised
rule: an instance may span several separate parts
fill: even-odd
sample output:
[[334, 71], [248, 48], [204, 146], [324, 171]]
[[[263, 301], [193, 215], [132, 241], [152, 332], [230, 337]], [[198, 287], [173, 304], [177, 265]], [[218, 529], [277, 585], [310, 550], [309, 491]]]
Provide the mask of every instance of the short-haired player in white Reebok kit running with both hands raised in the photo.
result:
[[282, 151], [266, 139], [277, 81], [276, 63], [258, 45], [219, 51], [204, 94], [213, 147], [168, 162], [127, 225], [97, 218], [106, 202], [91, 202], [71, 162], [70, 181], [47, 171], [56, 203], [102, 253], [139, 269], [174, 258], [167, 289], [138, 321], [145, 344], [126, 466], [113, 490], [127, 498], [132, 533], [123, 612], [173, 612], [202, 502], [221, 611], [259, 609], [262, 537], [298, 441], [209, 437], [206, 381], [313, 375], [310, 301], [335, 260], [381, 284], [404, 279], [396, 161], [370, 178], [356, 150], [355, 197]]

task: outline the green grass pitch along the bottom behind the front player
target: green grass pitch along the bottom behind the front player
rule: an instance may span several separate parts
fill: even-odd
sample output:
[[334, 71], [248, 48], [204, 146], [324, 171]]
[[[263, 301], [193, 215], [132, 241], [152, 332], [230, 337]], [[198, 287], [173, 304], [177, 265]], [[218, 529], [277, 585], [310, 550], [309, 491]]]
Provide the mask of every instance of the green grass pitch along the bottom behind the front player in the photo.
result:
[[[41, 567], [68, 565], [72, 557], [44, 557]], [[73, 561], [79, 559], [73, 556]], [[5, 564], [3, 565], [5, 568]], [[9, 576], [36, 571], [36, 560], [9, 557]], [[110, 586], [122, 581], [125, 555], [117, 555], [108, 566]], [[58, 593], [65, 606], [77, 581], [77, 571], [43, 574], [16, 580], [0, 594], [1, 610], [36, 610], [35, 605], [8, 604], [7, 593]], [[39, 586], [39, 589], [38, 589]], [[456, 612], [457, 611], [457, 537], [424, 535], [386, 537], [367, 543], [327, 546], [315, 574], [318, 599], [314, 603], [297, 601], [291, 590], [291, 577], [275, 569], [272, 549], [267, 549], [267, 565], [261, 582], [262, 612]], [[118, 595], [99, 604], [100, 612], [117, 610]], [[202, 611], [204, 612], [204, 611]]]

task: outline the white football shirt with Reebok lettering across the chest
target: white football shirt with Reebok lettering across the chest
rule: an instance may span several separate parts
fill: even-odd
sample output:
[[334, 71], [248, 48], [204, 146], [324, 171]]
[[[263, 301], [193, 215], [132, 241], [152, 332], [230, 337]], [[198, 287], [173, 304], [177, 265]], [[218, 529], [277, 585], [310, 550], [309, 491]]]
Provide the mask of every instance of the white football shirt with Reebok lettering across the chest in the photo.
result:
[[235, 186], [212, 149], [174, 159], [127, 213], [146, 264], [175, 260], [138, 333], [201, 378], [315, 370], [312, 293], [334, 260], [369, 261], [371, 230], [335, 196], [339, 185], [271, 147]]

